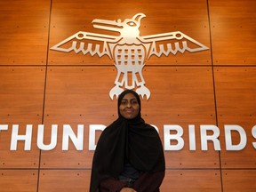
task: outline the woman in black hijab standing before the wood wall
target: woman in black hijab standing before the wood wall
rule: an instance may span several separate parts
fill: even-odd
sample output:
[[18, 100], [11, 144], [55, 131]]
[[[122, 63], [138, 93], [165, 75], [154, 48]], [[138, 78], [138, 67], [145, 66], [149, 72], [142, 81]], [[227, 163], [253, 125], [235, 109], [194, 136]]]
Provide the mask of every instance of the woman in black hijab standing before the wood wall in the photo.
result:
[[90, 192], [158, 192], [164, 151], [156, 129], [141, 118], [140, 96], [118, 97], [118, 118], [100, 135], [92, 160]]

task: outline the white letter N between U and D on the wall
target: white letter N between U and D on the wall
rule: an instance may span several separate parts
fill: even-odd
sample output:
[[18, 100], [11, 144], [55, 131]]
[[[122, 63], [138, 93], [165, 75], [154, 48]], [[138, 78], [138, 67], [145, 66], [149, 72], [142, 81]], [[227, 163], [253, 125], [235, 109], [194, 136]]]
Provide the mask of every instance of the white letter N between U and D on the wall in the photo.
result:
[[77, 137], [69, 124], [63, 125], [62, 150], [68, 150], [68, 138], [70, 138], [76, 147], [76, 150], [84, 148], [84, 124], [77, 125]]

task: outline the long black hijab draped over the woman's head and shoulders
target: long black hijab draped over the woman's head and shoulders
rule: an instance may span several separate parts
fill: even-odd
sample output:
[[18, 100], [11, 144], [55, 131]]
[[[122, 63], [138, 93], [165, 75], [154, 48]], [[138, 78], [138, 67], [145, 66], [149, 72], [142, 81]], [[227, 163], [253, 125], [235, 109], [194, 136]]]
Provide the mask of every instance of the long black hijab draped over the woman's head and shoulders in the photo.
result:
[[136, 92], [126, 90], [119, 95], [118, 118], [101, 133], [93, 156], [90, 192], [97, 191], [101, 180], [117, 178], [125, 160], [139, 172], [165, 169], [163, 146], [156, 129], [145, 123], [140, 112], [133, 119], [120, 115], [119, 106], [127, 93], [136, 97], [141, 109]]

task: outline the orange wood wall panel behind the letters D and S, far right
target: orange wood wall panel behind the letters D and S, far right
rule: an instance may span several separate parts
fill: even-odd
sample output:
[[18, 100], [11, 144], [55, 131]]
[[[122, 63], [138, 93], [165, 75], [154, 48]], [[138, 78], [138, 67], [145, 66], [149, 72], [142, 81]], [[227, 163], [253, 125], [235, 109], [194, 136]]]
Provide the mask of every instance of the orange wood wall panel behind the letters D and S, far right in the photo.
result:
[[[215, 87], [217, 100], [218, 122], [223, 124], [238, 124], [247, 135], [246, 146], [241, 151], [221, 151], [221, 161], [225, 168], [255, 167], [255, 148], [252, 142], [252, 127], [255, 125], [255, 84], [256, 70], [250, 67], [219, 67], [215, 68]], [[221, 132], [224, 129], [221, 128]], [[240, 135], [233, 133], [234, 144], [240, 143]], [[221, 135], [224, 142], [224, 135]]]

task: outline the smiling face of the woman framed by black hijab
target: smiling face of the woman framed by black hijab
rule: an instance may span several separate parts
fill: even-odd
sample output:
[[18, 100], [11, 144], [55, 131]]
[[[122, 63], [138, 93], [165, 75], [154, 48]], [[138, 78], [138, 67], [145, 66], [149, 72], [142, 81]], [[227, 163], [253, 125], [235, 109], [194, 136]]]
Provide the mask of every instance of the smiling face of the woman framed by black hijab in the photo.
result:
[[132, 93], [127, 93], [121, 100], [119, 106], [119, 113], [126, 119], [132, 119], [138, 116], [140, 112], [140, 105], [136, 97]]

